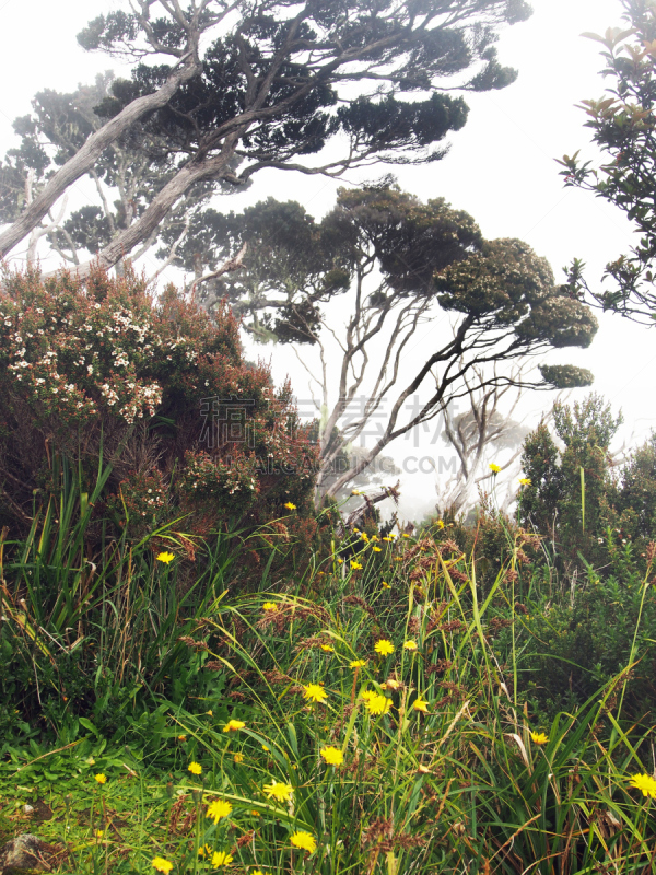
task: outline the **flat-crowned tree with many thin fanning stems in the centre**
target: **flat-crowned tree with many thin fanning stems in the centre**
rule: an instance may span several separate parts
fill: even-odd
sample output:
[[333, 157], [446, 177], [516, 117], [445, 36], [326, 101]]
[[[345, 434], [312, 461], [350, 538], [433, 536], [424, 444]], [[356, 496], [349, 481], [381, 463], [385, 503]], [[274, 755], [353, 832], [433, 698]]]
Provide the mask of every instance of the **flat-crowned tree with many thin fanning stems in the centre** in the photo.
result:
[[[473, 390], [591, 382], [569, 365], [543, 368], [541, 382], [508, 371], [549, 348], [588, 346], [596, 320], [525, 243], [485, 241], [472, 217], [444, 199], [422, 203], [386, 184], [340, 189], [321, 222], [269, 199], [238, 215], [216, 213], [203, 242], [216, 262], [247, 247], [241, 270], [204, 289], [207, 305], [225, 295], [256, 338], [292, 343], [317, 390], [318, 495], [337, 494], [389, 443]], [[191, 258], [185, 243], [176, 259], [188, 269]], [[409, 366], [403, 355], [418, 327], [440, 312], [453, 334], [436, 334], [435, 351]], [[336, 477], [338, 460], [373, 425], [374, 446]]]

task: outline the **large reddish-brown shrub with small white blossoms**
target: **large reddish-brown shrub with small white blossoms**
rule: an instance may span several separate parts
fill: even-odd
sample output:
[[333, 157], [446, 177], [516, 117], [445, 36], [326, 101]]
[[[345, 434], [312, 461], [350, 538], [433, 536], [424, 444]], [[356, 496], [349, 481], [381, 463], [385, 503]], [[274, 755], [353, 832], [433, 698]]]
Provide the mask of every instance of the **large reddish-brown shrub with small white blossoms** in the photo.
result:
[[[311, 506], [315, 451], [289, 385], [242, 354], [225, 308], [210, 318], [173, 287], [153, 300], [128, 271], [81, 281], [5, 276], [0, 298], [0, 516], [25, 529], [59, 494], [59, 462], [81, 491], [112, 472], [97, 516], [134, 536], [186, 516], [204, 534]], [[59, 460], [59, 462], [58, 462]], [[118, 518], [117, 518], [118, 517]], [[12, 533], [13, 534], [13, 533]]]

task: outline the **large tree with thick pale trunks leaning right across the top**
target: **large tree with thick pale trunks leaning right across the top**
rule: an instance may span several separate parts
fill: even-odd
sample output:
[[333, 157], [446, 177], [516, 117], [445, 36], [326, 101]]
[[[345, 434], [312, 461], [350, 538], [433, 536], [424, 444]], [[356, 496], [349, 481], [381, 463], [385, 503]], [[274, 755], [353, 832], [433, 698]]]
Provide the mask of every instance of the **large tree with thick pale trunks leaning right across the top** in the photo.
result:
[[[168, 176], [103, 243], [97, 260], [106, 268], [156, 235], [197, 186], [244, 186], [271, 167], [339, 176], [377, 161], [436, 161], [446, 149], [435, 144], [468, 112], [447, 92], [512, 82], [516, 73], [500, 65], [494, 43], [503, 24], [529, 14], [524, 0], [192, 0], [186, 11], [177, 0], [137, 0], [129, 13], [101, 15], [79, 42], [133, 58], [132, 78], [112, 83], [94, 108], [102, 126], [92, 125], [72, 154], [46, 142], [3, 168], [4, 201], [15, 203], [23, 166], [34, 170], [35, 186], [0, 234], [0, 256], [118, 141], [133, 149], [142, 141]], [[78, 266], [81, 276], [89, 269]]]

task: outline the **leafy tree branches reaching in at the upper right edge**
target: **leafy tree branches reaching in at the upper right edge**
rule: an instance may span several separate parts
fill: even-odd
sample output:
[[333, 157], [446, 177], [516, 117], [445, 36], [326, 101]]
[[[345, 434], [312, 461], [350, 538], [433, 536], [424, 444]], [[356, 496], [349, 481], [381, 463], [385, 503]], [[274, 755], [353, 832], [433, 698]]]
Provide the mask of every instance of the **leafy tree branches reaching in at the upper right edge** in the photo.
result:
[[607, 153], [598, 166], [583, 162], [579, 153], [560, 162], [566, 186], [593, 191], [619, 207], [634, 223], [640, 240], [629, 254], [606, 265], [602, 281], [611, 288], [595, 290], [585, 265], [570, 268], [571, 294], [588, 296], [604, 310], [612, 310], [653, 325], [656, 314], [656, 8], [651, 0], [622, 0], [625, 28], [609, 28], [604, 36], [586, 34], [605, 47], [602, 74], [613, 84], [601, 100], [583, 101], [593, 140]]

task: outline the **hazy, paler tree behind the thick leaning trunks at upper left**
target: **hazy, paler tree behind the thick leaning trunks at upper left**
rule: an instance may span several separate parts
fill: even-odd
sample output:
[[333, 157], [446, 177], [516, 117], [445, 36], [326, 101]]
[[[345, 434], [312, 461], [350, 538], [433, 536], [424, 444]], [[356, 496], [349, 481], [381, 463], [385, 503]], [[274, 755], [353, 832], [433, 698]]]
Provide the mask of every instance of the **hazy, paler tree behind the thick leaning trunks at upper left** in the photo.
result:
[[[44, 176], [50, 163], [66, 162], [102, 127], [103, 121], [94, 107], [109, 96], [114, 81], [114, 75], [108, 72], [97, 75], [93, 85], [80, 86], [71, 94], [51, 90], [36, 94], [32, 114], [14, 121], [21, 144], [10, 149], [5, 156], [0, 187], [4, 195], [0, 198], [1, 221], [17, 219], [22, 209], [34, 199], [34, 189], [38, 188], [39, 177]], [[47, 221], [40, 222], [30, 235], [27, 264], [34, 262], [37, 243], [44, 236], [62, 261], [79, 266], [81, 260], [92, 258], [117, 233], [128, 228], [175, 171], [171, 155], [153, 155], [154, 145], [145, 136], [138, 143], [126, 136], [107, 147], [89, 172], [97, 201], [74, 210], [65, 221], [65, 202], [58, 217], [48, 211]], [[50, 153], [50, 150], [55, 151]], [[169, 245], [160, 252], [163, 264], [151, 279], [171, 264], [192, 219], [207, 206], [215, 190], [216, 186], [209, 183], [191, 189], [133, 253], [133, 260], [137, 260], [157, 238], [172, 232]]]

